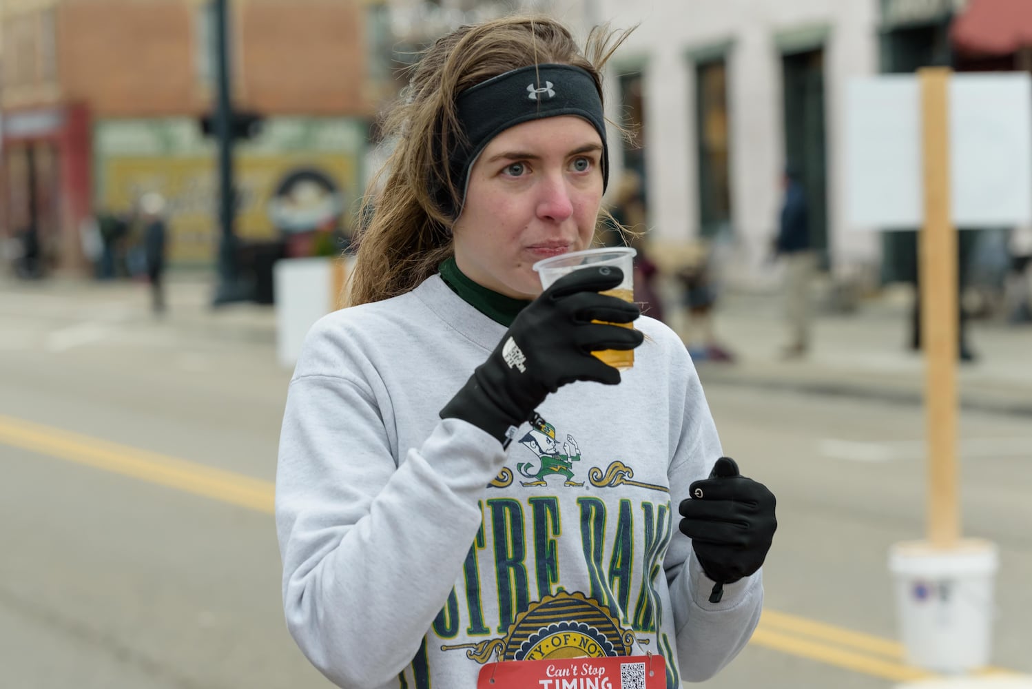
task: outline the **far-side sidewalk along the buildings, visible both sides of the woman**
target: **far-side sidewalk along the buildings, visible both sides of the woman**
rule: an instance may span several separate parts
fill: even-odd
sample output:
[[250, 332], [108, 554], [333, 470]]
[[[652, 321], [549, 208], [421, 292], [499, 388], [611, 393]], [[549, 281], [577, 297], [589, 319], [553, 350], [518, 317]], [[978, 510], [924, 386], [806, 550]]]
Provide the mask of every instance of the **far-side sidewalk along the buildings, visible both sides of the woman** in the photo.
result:
[[[147, 285], [52, 278], [39, 283], [0, 278], [0, 304], [20, 294], [50, 295], [66, 303], [66, 318], [121, 309], [123, 322], [153, 321]], [[276, 347], [273, 306], [254, 303], [211, 305], [214, 282], [206, 273], [176, 273], [168, 281], [166, 327], [195, 336]], [[811, 353], [780, 359], [784, 340], [777, 296], [728, 293], [721, 297], [715, 325], [734, 363], [699, 361], [706, 386], [729, 385], [757, 390], [864, 397], [897, 403], [921, 403], [924, 359], [905, 347], [910, 302], [885, 292], [852, 314], [817, 314]], [[106, 309], [106, 311], [105, 311]], [[1032, 416], [1032, 327], [972, 321], [971, 346], [978, 360], [958, 364], [963, 408]]]

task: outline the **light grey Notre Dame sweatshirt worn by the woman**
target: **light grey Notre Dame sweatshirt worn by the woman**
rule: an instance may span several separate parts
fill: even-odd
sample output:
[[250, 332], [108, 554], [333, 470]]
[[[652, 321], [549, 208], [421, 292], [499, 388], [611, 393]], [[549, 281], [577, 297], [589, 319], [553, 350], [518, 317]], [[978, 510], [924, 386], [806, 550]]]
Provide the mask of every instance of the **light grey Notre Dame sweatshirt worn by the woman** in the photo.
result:
[[465, 689], [499, 660], [662, 654], [667, 685], [745, 646], [761, 572], [713, 582], [677, 528], [720, 444], [681, 340], [580, 382], [502, 445], [439, 411], [506, 328], [439, 275], [326, 316], [287, 397], [276, 520], [290, 632], [341, 687]]

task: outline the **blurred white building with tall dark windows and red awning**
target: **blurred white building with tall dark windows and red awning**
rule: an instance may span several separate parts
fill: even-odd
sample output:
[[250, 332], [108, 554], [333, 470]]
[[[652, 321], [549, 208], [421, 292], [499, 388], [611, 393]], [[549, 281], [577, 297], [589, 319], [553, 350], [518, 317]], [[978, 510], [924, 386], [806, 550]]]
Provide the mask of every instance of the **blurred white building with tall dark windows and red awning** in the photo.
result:
[[644, 177], [656, 239], [724, 237], [740, 262], [729, 276], [746, 283], [771, 276], [761, 266], [787, 165], [802, 174], [826, 269], [880, 266], [885, 280], [906, 278], [895, 268], [909, 261], [898, 245], [905, 233], [845, 224], [836, 144], [849, 77], [928, 65], [1028, 69], [1032, 62], [1013, 42], [1010, 53], [992, 55], [965, 50], [950, 34], [976, 7], [1012, 25], [1015, 6], [1032, 6], [1025, 0], [590, 4], [586, 17], [617, 27], [640, 23], [615, 57], [610, 93], [611, 117], [640, 127], [641, 146], [624, 147], [614, 169]]

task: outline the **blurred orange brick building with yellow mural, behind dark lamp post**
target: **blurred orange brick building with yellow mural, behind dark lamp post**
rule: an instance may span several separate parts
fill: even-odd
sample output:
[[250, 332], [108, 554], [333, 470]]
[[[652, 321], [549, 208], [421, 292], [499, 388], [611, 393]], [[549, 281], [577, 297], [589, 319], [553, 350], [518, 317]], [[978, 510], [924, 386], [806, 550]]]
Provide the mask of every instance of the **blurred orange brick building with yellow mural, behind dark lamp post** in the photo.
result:
[[[360, 193], [382, 87], [362, 0], [232, 0], [236, 232], [277, 235]], [[38, 233], [52, 263], [84, 263], [79, 227], [148, 191], [168, 202], [172, 262], [209, 263], [216, 145], [215, 33], [203, 0], [3, 0], [0, 237]], [[289, 227], [287, 228], [290, 229]]]

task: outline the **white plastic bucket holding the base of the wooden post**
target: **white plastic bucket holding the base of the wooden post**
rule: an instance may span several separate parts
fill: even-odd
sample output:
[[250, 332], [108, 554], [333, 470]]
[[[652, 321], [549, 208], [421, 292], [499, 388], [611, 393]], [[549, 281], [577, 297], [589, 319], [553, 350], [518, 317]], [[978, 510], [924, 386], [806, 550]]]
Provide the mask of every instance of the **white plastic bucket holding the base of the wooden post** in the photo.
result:
[[925, 542], [896, 544], [889, 554], [907, 663], [964, 672], [989, 663], [997, 549], [964, 539], [948, 550]]

